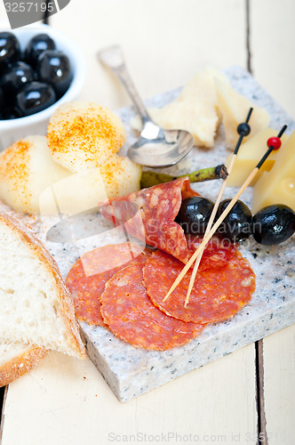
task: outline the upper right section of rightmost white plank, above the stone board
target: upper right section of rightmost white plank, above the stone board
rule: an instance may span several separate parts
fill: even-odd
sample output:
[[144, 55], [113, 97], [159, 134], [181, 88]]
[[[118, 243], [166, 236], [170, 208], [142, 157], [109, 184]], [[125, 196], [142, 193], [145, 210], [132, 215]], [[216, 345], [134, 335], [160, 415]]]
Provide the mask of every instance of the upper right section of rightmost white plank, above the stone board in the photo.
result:
[[251, 0], [251, 53], [254, 77], [295, 117], [293, 0]]

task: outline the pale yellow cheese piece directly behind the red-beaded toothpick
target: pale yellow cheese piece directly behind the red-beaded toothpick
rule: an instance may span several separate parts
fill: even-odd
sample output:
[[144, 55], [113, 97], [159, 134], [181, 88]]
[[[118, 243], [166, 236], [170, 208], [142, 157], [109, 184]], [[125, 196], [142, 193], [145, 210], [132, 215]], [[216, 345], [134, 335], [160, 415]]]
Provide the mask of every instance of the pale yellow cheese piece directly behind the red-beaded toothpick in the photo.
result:
[[[249, 174], [251, 174], [253, 168], [257, 166], [259, 160], [267, 151], [267, 139], [276, 136], [277, 133], [277, 130], [267, 127], [241, 145], [235, 158], [234, 167], [228, 176], [227, 185], [232, 187], [241, 187], [243, 185], [243, 182], [247, 179]], [[282, 142], [285, 142], [287, 139], [288, 136], [283, 134], [281, 138]], [[274, 150], [269, 155], [266, 162], [261, 166], [259, 173], [251, 182], [251, 187], [259, 180], [262, 172], [269, 171], [272, 166], [274, 166], [278, 151], [279, 150]], [[226, 161], [227, 167], [229, 166], [232, 157], [232, 154], [228, 156]]]

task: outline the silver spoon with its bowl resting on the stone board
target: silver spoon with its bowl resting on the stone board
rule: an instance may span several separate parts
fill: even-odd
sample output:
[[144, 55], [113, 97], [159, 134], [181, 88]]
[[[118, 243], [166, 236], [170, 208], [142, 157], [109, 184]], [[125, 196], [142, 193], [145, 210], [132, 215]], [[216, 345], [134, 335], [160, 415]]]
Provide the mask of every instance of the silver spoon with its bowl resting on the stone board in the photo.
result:
[[110, 46], [98, 53], [100, 61], [116, 74], [129, 93], [142, 120], [140, 139], [127, 154], [142, 166], [173, 166], [193, 148], [193, 136], [185, 130], [164, 130], [148, 115], [143, 101], [132, 83], [119, 45]]

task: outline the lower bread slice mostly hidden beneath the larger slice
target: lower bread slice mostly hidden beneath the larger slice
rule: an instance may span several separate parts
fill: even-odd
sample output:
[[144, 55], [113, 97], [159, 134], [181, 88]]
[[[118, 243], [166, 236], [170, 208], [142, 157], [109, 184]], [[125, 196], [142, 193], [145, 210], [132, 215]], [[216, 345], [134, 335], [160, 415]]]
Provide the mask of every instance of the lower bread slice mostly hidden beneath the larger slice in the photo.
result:
[[0, 344], [0, 387], [35, 368], [49, 351], [22, 343]]

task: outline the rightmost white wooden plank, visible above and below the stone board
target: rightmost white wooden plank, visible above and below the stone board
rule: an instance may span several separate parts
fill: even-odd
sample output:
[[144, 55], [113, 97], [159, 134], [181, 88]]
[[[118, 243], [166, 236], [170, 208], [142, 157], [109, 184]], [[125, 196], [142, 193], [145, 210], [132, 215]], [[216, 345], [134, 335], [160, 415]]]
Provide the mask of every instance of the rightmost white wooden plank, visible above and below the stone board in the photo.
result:
[[[295, 117], [295, 67], [291, 61], [295, 4], [291, 0], [250, 0], [250, 12], [253, 75]], [[263, 340], [264, 373], [260, 368], [259, 391], [265, 412], [260, 406], [260, 443], [294, 443], [294, 337], [293, 326]]]

